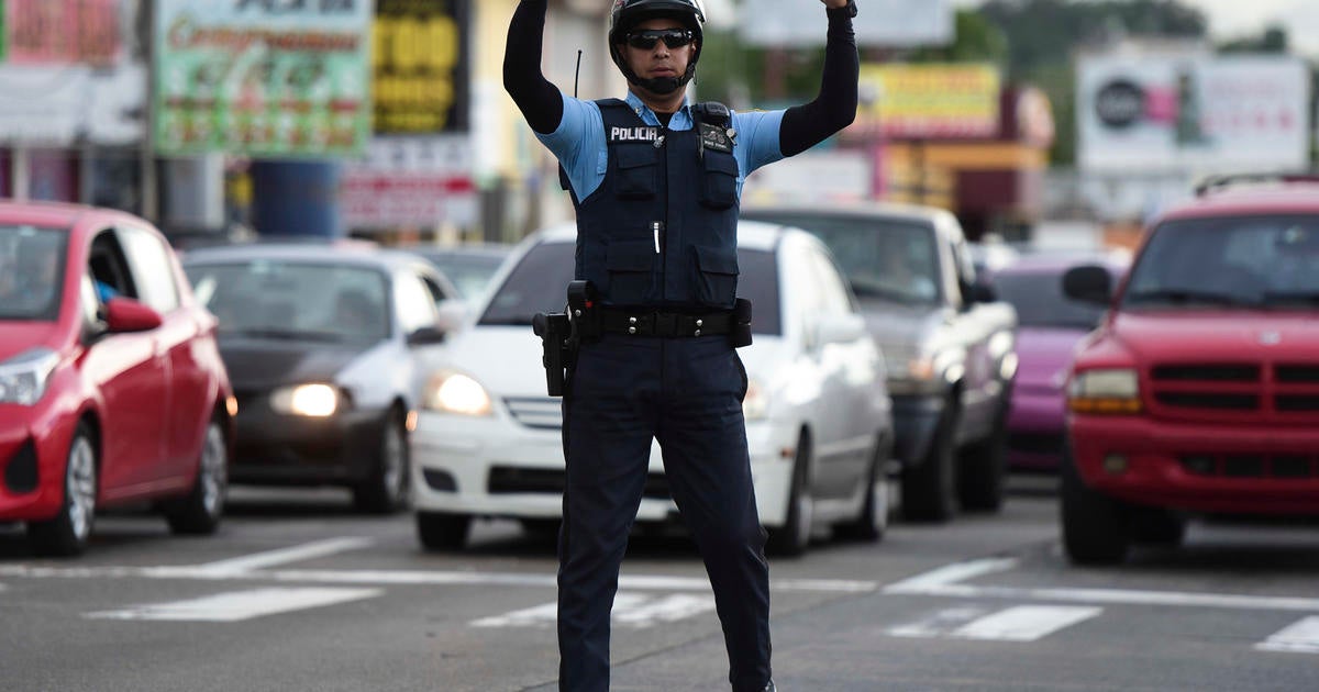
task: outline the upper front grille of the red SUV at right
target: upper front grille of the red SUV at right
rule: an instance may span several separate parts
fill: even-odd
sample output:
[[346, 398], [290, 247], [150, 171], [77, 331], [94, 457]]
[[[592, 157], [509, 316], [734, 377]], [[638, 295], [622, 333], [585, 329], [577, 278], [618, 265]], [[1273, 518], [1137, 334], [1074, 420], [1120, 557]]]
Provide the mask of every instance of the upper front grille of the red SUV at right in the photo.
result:
[[1319, 411], [1316, 364], [1157, 364], [1149, 382], [1150, 411], [1170, 418], [1314, 423]]

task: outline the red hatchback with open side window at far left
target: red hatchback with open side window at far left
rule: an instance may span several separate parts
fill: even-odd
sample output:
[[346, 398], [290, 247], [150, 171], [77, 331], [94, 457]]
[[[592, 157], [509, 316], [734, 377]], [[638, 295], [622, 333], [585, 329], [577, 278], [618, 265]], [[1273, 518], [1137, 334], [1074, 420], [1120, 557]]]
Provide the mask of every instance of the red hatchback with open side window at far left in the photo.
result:
[[215, 318], [149, 223], [0, 203], [0, 522], [77, 555], [96, 511], [153, 501], [215, 531], [236, 411]]

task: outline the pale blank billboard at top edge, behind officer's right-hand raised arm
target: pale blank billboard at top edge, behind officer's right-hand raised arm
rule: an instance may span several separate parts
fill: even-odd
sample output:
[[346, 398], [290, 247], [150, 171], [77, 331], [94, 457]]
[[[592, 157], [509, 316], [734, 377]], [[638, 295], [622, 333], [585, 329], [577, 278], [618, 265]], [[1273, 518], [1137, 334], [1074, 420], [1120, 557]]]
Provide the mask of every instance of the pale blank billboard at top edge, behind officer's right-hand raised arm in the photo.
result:
[[[948, 0], [860, 0], [852, 26], [856, 45], [902, 47], [952, 42]], [[766, 47], [824, 45], [824, 7], [811, 0], [754, 0], [737, 11], [744, 43]]]

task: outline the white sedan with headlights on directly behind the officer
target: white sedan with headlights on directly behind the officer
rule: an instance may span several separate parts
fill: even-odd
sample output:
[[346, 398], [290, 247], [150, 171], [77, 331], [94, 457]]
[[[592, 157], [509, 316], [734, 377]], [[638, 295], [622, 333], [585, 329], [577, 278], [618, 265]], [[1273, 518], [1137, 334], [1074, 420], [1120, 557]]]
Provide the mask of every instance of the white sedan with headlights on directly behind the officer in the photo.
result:
[[[826, 246], [810, 233], [739, 225], [739, 295], [754, 343], [739, 349], [743, 403], [769, 547], [797, 555], [815, 529], [877, 540], [888, 525], [893, 440], [882, 357]], [[524, 241], [443, 348], [413, 436], [413, 506], [427, 548], [460, 548], [474, 517], [529, 527], [562, 517], [561, 399], [546, 395], [536, 312], [563, 308], [576, 229]], [[677, 518], [657, 443], [637, 522]]]

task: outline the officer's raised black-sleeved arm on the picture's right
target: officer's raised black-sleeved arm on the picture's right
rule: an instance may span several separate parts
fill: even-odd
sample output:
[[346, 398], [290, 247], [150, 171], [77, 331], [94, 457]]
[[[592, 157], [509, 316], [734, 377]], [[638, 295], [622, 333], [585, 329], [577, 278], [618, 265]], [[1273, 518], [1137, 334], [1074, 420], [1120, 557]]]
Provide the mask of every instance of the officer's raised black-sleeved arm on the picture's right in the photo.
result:
[[828, 38], [820, 92], [814, 101], [794, 105], [783, 113], [778, 130], [778, 148], [783, 156], [799, 154], [856, 120], [856, 80], [861, 62], [856, 54], [852, 11], [845, 0], [822, 1], [828, 8]]

